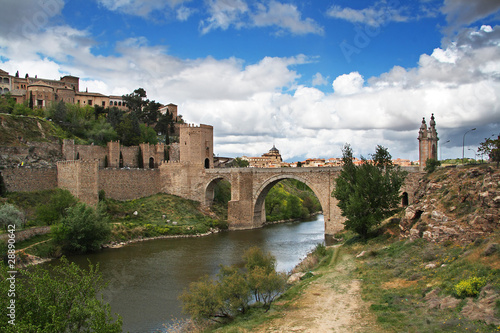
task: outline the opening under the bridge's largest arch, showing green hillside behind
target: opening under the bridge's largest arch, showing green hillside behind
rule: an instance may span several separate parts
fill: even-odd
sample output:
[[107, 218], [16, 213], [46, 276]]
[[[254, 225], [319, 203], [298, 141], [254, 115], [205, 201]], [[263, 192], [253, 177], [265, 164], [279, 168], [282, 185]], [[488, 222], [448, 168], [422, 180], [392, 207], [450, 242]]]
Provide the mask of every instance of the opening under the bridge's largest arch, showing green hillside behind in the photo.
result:
[[262, 187], [255, 201], [253, 225], [307, 218], [322, 207], [318, 195], [304, 180], [281, 176]]

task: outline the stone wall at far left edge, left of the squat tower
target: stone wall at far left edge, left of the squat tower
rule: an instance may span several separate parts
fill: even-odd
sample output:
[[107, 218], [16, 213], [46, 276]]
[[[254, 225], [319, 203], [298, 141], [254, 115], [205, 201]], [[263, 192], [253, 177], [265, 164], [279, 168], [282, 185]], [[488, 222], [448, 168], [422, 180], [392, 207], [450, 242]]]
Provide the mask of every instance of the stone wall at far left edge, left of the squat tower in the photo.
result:
[[9, 192], [32, 192], [57, 187], [56, 168], [9, 168], [0, 173]]

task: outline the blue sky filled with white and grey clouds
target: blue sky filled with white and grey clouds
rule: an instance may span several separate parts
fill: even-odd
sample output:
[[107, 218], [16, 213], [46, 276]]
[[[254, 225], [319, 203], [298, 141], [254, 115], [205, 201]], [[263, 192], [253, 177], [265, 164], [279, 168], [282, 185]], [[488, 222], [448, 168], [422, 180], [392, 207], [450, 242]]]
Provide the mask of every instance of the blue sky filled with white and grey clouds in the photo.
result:
[[[377, 145], [440, 159], [500, 132], [498, 0], [2, 0], [0, 69], [178, 105], [218, 156], [288, 162]], [[474, 131], [470, 131], [476, 128]]]

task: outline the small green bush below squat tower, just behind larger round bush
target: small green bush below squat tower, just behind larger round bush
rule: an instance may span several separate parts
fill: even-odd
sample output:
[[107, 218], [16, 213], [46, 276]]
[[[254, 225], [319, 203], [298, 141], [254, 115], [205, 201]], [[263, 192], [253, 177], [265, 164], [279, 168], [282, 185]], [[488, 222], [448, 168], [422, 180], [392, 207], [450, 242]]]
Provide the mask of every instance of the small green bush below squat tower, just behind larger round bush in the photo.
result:
[[74, 206], [77, 201], [68, 190], [57, 189], [47, 204], [37, 207], [36, 219], [44, 225], [57, 223], [66, 216], [66, 210]]

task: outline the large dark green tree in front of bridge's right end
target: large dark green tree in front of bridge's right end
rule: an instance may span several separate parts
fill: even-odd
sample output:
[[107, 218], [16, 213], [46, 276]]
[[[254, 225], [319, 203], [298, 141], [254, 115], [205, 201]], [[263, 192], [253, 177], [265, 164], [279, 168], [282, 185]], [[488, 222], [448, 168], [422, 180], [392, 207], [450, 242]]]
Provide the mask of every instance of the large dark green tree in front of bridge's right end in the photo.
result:
[[344, 165], [335, 180], [333, 195], [339, 201], [342, 216], [346, 218], [345, 228], [366, 238], [369, 231], [397, 207], [399, 189], [406, 172], [383, 162], [390, 155], [382, 146], [377, 146], [373, 155], [380, 157], [377, 158], [377, 165], [365, 159], [360, 166], [354, 165], [352, 149], [348, 144], [342, 152]]

